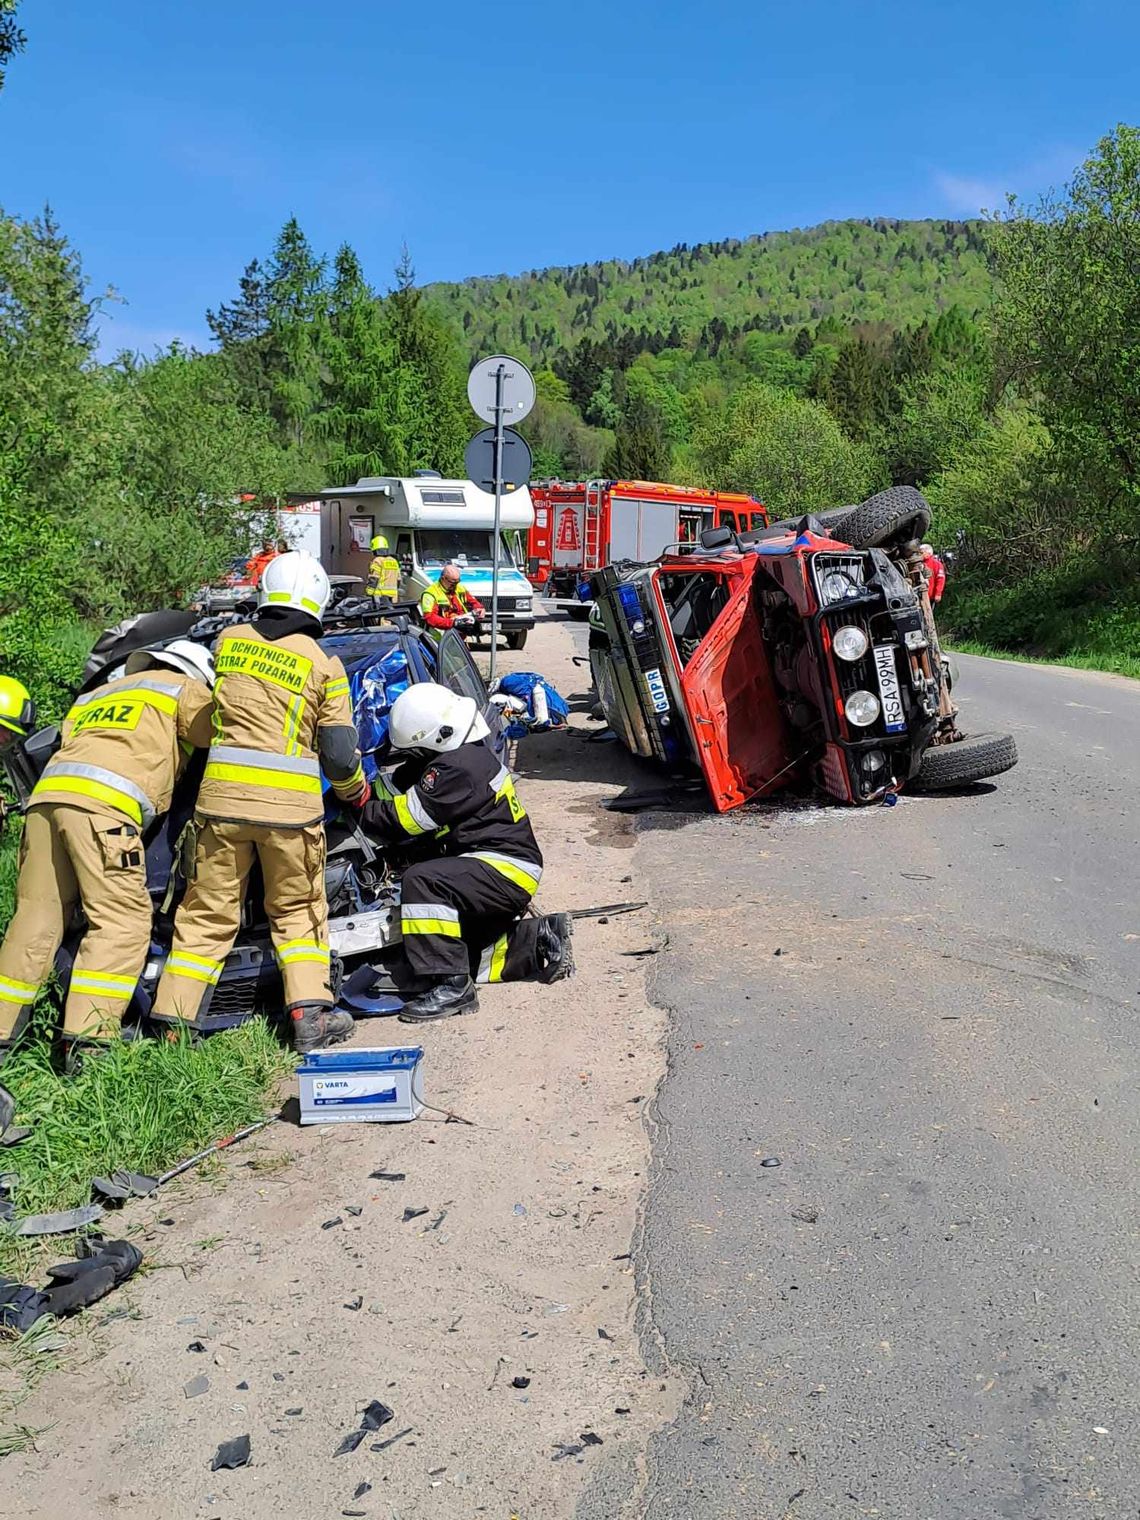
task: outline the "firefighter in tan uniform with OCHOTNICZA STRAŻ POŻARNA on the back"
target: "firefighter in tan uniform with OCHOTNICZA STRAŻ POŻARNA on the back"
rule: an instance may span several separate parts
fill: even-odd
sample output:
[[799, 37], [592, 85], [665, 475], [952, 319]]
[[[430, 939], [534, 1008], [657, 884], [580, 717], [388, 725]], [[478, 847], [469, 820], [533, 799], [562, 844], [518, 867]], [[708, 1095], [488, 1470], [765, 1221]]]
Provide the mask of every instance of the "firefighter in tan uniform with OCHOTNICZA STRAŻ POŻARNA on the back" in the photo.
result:
[[328, 576], [306, 553], [280, 555], [252, 622], [228, 628], [214, 655], [214, 737], [198, 793], [195, 874], [178, 915], [152, 1017], [205, 1011], [242, 918], [254, 860], [298, 1050], [345, 1040], [333, 1012], [321, 769], [353, 806], [368, 798], [348, 678], [316, 641]]

